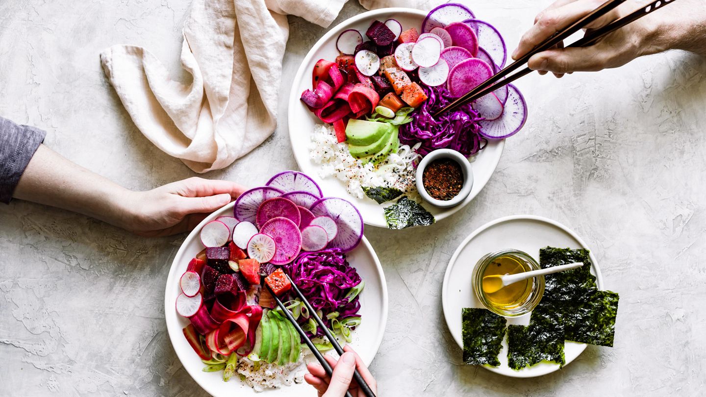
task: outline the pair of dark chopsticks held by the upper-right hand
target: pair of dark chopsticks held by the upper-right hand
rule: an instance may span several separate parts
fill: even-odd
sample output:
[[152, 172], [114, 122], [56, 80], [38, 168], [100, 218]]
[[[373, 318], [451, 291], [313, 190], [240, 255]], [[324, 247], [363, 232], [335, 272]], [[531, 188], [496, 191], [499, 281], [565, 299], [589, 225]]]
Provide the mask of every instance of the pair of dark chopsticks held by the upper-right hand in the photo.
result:
[[[578, 32], [582, 28], [591, 27], [592, 23], [599, 20], [599, 18], [608, 15], [611, 11], [614, 10], [614, 8], [616, 8], [625, 1], [626, 0], [606, 1], [604, 4], [602, 4], [602, 6], [599, 6], [594, 11], [588, 13], [579, 20], [576, 20], [575, 22], [571, 23], [566, 28], [563, 28], [562, 30], [556, 32], [554, 35], [551, 35], [546, 40], [539, 42], [539, 44], [535, 45], [531, 51], [522, 55], [522, 57], [517, 59], [517, 61], [506, 66], [505, 69], [498, 71], [498, 73], [496, 73], [494, 76], [491, 76], [491, 78], [489, 78], [488, 80], [484, 81], [483, 83], [480, 83], [477, 88], [474, 88], [473, 90], [469, 91], [469, 93], [455, 100], [455, 102], [450, 103], [448, 106], [436, 112], [436, 114], [434, 114], [433, 116], [438, 117], [444, 112], [456, 109], [457, 107], [460, 107], [468, 102], [477, 100], [478, 98], [483, 97], [484, 95], [487, 95], [498, 88], [501, 88], [503, 85], [512, 83], [513, 81], [517, 80], [522, 76], [527, 76], [527, 74], [532, 72], [532, 69], [525, 68], [522, 69], [522, 71], [519, 71], [511, 76], [508, 75], [510, 75], [510, 73], [512, 73], [513, 71], [520, 69], [520, 67], [530, 61], [530, 59], [535, 54], [539, 54], [540, 52], [544, 52], [557, 45], [560, 45], [563, 40], [566, 40], [566, 38], [568, 38], [570, 35], [573, 35], [575, 32]], [[625, 16], [618, 20], [614, 20], [613, 22], [602, 26], [602, 28], [588, 30], [587, 35], [583, 39], [578, 40], [578, 42], [573, 43], [569, 47], [585, 47], [588, 45], [592, 45], [598, 40], [600, 40], [602, 37], [608, 35], [609, 33], [614, 32], [619, 28], [623, 28], [625, 25], [628, 25], [628, 23], [631, 23], [637, 20], [638, 18], [642, 18], [642, 16], [645, 16], [648, 13], [657, 10], [657, 8], [660, 8], [661, 6], [666, 6], [667, 4], [673, 3], [674, 1], [676, 0], [654, 0], [648, 4], [644, 4], [637, 10], [633, 11], [633, 13], [630, 13], [628, 16]], [[532, 42], [532, 40], [530, 40], [530, 42]]]

